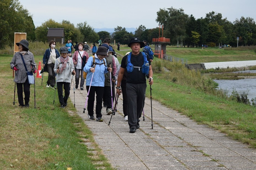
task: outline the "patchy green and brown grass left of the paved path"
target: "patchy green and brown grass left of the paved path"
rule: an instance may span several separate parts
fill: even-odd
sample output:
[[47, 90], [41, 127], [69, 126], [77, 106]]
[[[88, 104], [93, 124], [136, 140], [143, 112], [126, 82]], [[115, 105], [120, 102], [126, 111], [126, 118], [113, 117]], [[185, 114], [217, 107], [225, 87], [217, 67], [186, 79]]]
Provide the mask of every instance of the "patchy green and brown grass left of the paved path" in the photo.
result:
[[[0, 169], [112, 169], [71, 101], [60, 108], [58, 93], [46, 88], [48, 74], [30, 87], [30, 107], [13, 105], [12, 56], [0, 55]], [[35, 57], [36, 63], [42, 56]], [[87, 145], [92, 146], [88, 148]], [[96, 154], [94, 154], [96, 152]]]

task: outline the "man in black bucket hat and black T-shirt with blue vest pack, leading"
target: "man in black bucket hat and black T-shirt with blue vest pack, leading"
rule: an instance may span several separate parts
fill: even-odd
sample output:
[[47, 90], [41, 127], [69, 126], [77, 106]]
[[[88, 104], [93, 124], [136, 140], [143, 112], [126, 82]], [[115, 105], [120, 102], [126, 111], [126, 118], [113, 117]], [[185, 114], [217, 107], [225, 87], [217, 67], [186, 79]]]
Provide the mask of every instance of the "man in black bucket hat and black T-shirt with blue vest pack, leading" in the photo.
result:
[[[149, 64], [147, 67], [147, 73], [149, 75], [149, 84], [153, 84], [153, 71], [149, 56], [145, 53], [140, 52], [140, 49], [144, 47], [144, 43], [139, 38], [135, 37], [130, 39], [128, 47], [132, 49], [132, 52], [125, 55], [121, 61], [121, 67], [117, 78], [116, 92], [118, 95], [121, 93], [121, 81], [124, 75], [126, 75], [126, 93], [128, 100], [128, 124], [130, 133], [134, 133], [136, 129], [140, 128], [140, 117], [145, 104], [146, 94], [146, 73], [142, 69], [146, 66], [145, 63]], [[146, 61], [145, 61], [146, 60]], [[132, 69], [130, 69], [132, 67]], [[144, 67], [143, 67], [144, 68]], [[143, 73], [144, 72], [144, 73]]]

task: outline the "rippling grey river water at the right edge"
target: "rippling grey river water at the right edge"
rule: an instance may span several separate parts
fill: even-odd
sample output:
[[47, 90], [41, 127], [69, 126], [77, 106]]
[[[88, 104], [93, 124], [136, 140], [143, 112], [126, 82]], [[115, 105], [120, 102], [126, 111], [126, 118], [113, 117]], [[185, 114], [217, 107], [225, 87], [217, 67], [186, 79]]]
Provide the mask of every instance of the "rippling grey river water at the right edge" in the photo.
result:
[[[246, 70], [241, 72], [256, 73], [256, 70]], [[228, 95], [232, 94], [234, 88], [234, 90], [236, 90], [238, 94], [242, 94], [243, 92], [248, 93], [247, 97], [249, 101], [251, 101], [252, 98], [256, 97], [256, 78], [214, 81], [219, 84], [219, 89], [225, 90]]]

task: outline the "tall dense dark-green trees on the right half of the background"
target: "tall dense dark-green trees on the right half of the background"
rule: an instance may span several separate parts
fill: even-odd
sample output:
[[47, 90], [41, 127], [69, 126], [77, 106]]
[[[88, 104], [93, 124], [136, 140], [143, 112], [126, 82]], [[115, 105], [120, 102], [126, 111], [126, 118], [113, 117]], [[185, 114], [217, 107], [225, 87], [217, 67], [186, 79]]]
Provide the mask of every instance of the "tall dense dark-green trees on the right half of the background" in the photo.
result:
[[221, 13], [209, 12], [205, 18], [195, 19], [183, 9], [160, 9], [156, 21], [164, 25], [164, 35], [171, 44], [194, 47], [201, 44], [219, 46], [219, 43], [236, 46], [236, 37], [243, 46], [256, 45], [256, 25], [253, 18], [243, 16], [233, 23], [222, 18]]

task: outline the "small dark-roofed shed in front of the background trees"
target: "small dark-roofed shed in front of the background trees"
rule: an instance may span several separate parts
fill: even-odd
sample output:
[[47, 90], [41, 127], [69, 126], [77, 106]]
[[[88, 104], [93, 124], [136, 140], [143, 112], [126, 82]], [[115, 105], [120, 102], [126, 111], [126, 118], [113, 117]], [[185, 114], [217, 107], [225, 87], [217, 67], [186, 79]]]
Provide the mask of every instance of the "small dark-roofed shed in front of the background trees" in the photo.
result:
[[64, 44], [65, 42], [64, 28], [48, 28], [47, 39], [48, 39], [48, 42], [53, 39], [58, 43]]

